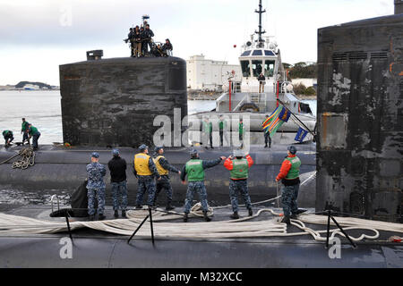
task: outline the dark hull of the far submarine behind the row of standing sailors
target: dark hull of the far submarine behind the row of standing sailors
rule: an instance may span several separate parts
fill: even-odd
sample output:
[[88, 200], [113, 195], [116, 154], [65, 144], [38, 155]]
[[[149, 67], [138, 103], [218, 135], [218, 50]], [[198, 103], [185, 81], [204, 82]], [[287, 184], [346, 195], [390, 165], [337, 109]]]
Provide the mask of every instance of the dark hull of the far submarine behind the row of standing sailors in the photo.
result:
[[[219, 156], [232, 155], [232, 148], [221, 147], [213, 150], [199, 149], [201, 159], [213, 160]], [[301, 158], [301, 187], [299, 203], [301, 206], [314, 206], [315, 186], [315, 147], [313, 144], [300, 145], [298, 156]], [[13, 149], [0, 151], [0, 162], [13, 156]], [[121, 156], [126, 160], [126, 170], [129, 197], [135, 198], [137, 192], [137, 179], [133, 175], [133, 156], [137, 153], [131, 147], [119, 148]], [[26, 170], [13, 169], [11, 162], [0, 164], [0, 186], [7, 188], [13, 186], [23, 189], [76, 189], [81, 182], [87, 178], [86, 165], [90, 163], [90, 154], [93, 151], [99, 152], [99, 162], [107, 164], [112, 158], [111, 150], [100, 147], [75, 147], [65, 149], [64, 147], [42, 146], [37, 152], [35, 164]], [[276, 197], [278, 187], [275, 178], [279, 168], [287, 154], [287, 146], [272, 146], [271, 148], [252, 147], [250, 155], [254, 164], [250, 170], [248, 187], [253, 201], [260, 201]], [[186, 148], [166, 148], [165, 156], [170, 164], [182, 169], [190, 159], [189, 150]], [[13, 160], [12, 160], [13, 162]], [[184, 202], [186, 186], [184, 186], [176, 173], [169, 174], [174, 189], [174, 201], [182, 204]], [[107, 194], [110, 194], [110, 175], [107, 171], [105, 177], [107, 182]], [[221, 163], [206, 171], [205, 185], [208, 191], [208, 199], [213, 206], [227, 205], [229, 203], [228, 186], [229, 172]], [[197, 199], [197, 198], [195, 198]], [[241, 200], [242, 201], [242, 200]], [[159, 195], [159, 203], [166, 203], [165, 194]], [[240, 202], [242, 203], [242, 202]]]

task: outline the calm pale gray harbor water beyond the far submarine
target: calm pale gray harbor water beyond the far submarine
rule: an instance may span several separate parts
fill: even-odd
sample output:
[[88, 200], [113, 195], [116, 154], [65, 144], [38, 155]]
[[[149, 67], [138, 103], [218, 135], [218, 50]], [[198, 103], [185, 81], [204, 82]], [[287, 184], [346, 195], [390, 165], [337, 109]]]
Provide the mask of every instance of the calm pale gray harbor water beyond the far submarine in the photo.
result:
[[[39, 144], [63, 142], [60, 91], [0, 90], [0, 130], [13, 130], [15, 141], [21, 141], [21, 118], [37, 127]], [[316, 100], [304, 100], [316, 115]], [[189, 100], [188, 114], [210, 111], [215, 101]]]

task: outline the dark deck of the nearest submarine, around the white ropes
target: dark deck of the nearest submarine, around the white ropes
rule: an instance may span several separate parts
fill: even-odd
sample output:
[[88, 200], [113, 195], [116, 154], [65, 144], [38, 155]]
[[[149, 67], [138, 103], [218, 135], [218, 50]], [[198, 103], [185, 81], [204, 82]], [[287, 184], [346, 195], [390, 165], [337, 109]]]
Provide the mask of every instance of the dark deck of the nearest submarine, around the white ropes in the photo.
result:
[[[262, 207], [255, 206], [255, 213]], [[177, 212], [182, 208], [177, 207]], [[308, 213], [313, 213], [309, 209]], [[50, 206], [23, 206], [9, 208], [4, 213], [47, 219]], [[228, 220], [231, 208], [214, 211], [213, 220]], [[240, 209], [241, 217], [247, 215]], [[113, 219], [110, 206], [106, 208], [107, 219]], [[255, 220], [272, 216], [263, 213]], [[64, 220], [64, 218], [56, 218]], [[190, 218], [189, 223], [201, 222], [201, 218]], [[182, 218], [170, 222], [182, 222]], [[148, 223], [148, 222], [147, 222]], [[306, 224], [313, 230], [326, 230], [325, 225]], [[158, 223], [154, 223], [158, 228]], [[333, 226], [331, 227], [333, 228]], [[296, 226], [287, 232], [300, 231]], [[372, 231], [364, 231], [371, 234]], [[359, 236], [363, 231], [347, 231]], [[286, 267], [403, 267], [403, 245], [388, 242], [388, 231], [380, 231], [377, 240], [356, 242], [353, 248], [341, 238], [341, 257], [330, 259], [325, 241], [316, 241], [310, 235], [296, 237], [271, 237], [247, 239], [156, 239], [134, 237], [130, 244], [128, 236], [103, 231], [81, 229], [73, 231], [73, 258], [61, 259], [61, 238], [67, 232], [57, 234], [32, 234], [0, 236], [0, 267], [136, 267], [136, 268], [286, 268]]]

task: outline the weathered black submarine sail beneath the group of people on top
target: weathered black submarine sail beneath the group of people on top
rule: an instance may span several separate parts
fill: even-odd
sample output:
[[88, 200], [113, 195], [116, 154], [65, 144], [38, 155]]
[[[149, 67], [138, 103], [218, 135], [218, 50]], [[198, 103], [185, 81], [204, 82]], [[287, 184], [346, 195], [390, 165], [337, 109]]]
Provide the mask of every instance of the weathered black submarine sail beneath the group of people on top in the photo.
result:
[[59, 66], [64, 143], [152, 146], [161, 128], [153, 126], [157, 115], [169, 117], [174, 134], [174, 109], [180, 108], [180, 120], [187, 115], [186, 62], [172, 56], [102, 55], [102, 50], [89, 51], [87, 61]]

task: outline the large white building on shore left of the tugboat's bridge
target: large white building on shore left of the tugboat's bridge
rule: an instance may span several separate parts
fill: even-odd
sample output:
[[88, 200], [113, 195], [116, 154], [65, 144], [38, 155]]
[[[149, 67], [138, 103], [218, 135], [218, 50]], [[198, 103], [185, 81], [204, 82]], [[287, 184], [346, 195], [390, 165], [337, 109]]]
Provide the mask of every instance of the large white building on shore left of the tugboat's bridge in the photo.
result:
[[242, 72], [238, 64], [228, 64], [225, 61], [214, 61], [204, 58], [204, 55], [192, 55], [186, 61], [187, 88], [201, 90], [226, 89], [228, 77], [232, 71], [235, 76], [232, 80], [240, 81]]

